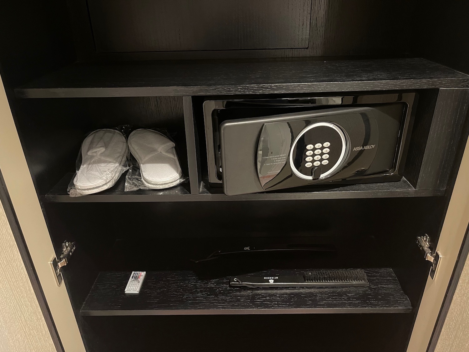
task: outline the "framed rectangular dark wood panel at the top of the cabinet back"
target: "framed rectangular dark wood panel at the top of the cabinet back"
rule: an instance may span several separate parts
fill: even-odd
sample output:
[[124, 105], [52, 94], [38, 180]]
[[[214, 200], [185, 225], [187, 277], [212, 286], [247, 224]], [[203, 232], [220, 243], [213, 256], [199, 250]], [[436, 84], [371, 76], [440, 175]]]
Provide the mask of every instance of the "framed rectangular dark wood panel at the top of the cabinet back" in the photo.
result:
[[308, 47], [311, 0], [88, 0], [98, 52]]

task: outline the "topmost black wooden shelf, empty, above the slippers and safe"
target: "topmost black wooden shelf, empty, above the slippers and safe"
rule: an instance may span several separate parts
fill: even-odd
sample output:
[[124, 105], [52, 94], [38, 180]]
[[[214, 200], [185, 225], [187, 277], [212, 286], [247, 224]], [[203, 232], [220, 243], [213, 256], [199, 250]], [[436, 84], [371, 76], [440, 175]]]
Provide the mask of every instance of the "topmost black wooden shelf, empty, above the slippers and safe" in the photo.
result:
[[469, 76], [424, 59], [76, 63], [19, 98], [135, 97], [461, 88]]

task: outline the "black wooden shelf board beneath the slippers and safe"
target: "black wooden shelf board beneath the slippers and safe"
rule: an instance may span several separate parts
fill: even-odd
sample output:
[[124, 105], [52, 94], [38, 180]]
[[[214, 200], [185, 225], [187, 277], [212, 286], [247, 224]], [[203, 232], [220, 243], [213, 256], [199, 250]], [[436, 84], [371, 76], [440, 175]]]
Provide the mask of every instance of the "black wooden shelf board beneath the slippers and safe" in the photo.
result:
[[189, 184], [181, 184], [166, 190], [124, 191], [125, 177], [106, 191], [81, 197], [70, 197], [68, 183], [73, 174], [68, 173], [42, 199], [46, 202], [189, 202], [223, 200], [289, 200], [289, 199], [347, 199], [347, 198], [396, 198], [396, 197], [432, 197], [442, 196], [445, 190], [416, 190], [405, 178], [398, 182], [379, 184], [334, 185], [316, 188], [290, 189], [280, 192], [265, 192], [227, 196], [222, 188], [210, 188], [202, 185], [199, 194], [190, 194]]

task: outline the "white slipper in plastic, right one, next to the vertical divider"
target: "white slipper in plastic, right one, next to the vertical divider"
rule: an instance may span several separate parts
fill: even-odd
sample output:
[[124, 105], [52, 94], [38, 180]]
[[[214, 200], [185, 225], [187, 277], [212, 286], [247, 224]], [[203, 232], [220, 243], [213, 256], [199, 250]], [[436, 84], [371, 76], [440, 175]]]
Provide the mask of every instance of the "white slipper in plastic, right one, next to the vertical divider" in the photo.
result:
[[169, 188], [182, 182], [174, 143], [161, 133], [135, 130], [129, 136], [129, 149], [140, 165], [142, 182], [148, 188]]

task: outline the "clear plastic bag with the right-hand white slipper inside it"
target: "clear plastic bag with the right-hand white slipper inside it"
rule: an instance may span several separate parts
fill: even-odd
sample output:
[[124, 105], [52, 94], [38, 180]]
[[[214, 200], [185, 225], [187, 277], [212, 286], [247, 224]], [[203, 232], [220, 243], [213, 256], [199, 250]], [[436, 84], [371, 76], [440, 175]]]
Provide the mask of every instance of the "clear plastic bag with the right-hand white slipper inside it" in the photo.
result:
[[163, 129], [138, 129], [129, 135], [132, 166], [125, 191], [161, 190], [187, 181], [173, 138]]

